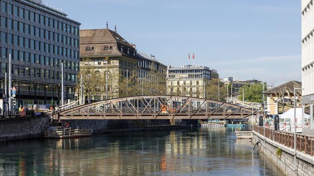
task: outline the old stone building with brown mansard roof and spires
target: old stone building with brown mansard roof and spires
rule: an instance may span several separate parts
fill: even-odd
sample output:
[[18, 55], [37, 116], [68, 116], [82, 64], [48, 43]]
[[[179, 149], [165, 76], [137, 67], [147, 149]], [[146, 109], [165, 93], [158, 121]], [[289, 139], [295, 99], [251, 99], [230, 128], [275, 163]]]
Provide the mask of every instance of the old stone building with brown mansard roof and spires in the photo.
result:
[[[137, 52], [135, 44], [128, 43], [116, 32], [116, 28], [114, 31], [110, 30], [108, 24], [105, 29], [80, 30], [79, 45], [80, 68], [83, 69], [86, 66], [84, 63], [88, 59], [88, 62], [92, 63], [89, 66], [101, 73], [108, 73], [107, 98], [120, 96], [119, 82], [123, 78], [129, 78], [133, 71], [137, 71], [136, 74], [140, 81], [146, 80], [148, 72], [153, 68], [164, 73], [164, 79], [166, 77], [165, 65], [144, 53]], [[105, 93], [99, 93], [94, 95], [92, 100], [105, 98]]]

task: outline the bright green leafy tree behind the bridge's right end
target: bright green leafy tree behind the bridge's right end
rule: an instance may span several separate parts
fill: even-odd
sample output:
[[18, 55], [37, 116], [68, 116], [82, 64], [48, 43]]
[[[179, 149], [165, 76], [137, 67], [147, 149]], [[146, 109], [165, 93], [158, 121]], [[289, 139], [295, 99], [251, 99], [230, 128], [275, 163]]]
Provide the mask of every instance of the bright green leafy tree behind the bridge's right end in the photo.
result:
[[243, 99], [243, 89], [244, 89], [244, 101], [247, 102], [257, 102], [262, 103], [262, 92], [263, 92], [263, 85], [264, 90], [266, 90], [266, 83], [254, 83], [251, 86], [245, 86], [239, 89], [239, 96], [238, 100]]

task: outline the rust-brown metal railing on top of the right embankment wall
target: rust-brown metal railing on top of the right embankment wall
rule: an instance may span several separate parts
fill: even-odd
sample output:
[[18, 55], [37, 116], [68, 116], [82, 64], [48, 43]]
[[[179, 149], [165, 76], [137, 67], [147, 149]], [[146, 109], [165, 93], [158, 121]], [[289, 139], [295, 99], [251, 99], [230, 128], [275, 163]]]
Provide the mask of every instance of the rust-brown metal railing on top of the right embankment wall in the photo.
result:
[[[258, 132], [264, 136], [263, 127], [253, 126], [253, 131]], [[294, 148], [294, 133], [275, 131], [265, 128], [265, 137], [283, 144], [287, 147]], [[296, 150], [304, 152], [305, 154], [314, 154], [314, 136], [296, 134]]]

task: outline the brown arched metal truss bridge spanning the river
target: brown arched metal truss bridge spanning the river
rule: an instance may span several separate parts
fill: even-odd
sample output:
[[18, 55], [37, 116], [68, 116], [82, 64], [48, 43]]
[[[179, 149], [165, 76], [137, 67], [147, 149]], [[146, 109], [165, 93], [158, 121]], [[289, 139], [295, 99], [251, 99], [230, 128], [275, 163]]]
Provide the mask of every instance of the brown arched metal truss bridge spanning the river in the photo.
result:
[[259, 112], [204, 98], [140, 95], [101, 100], [53, 114], [54, 119], [244, 119]]

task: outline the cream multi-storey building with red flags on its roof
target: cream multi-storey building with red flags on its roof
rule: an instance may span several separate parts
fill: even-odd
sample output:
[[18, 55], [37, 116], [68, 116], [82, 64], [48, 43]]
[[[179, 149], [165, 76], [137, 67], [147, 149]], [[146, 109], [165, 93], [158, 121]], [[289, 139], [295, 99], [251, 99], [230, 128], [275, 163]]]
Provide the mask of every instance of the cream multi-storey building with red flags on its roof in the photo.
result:
[[204, 98], [209, 80], [218, 77], [217, 70], [209, 69], [207, 66], [169, 66], [167, 93]]

